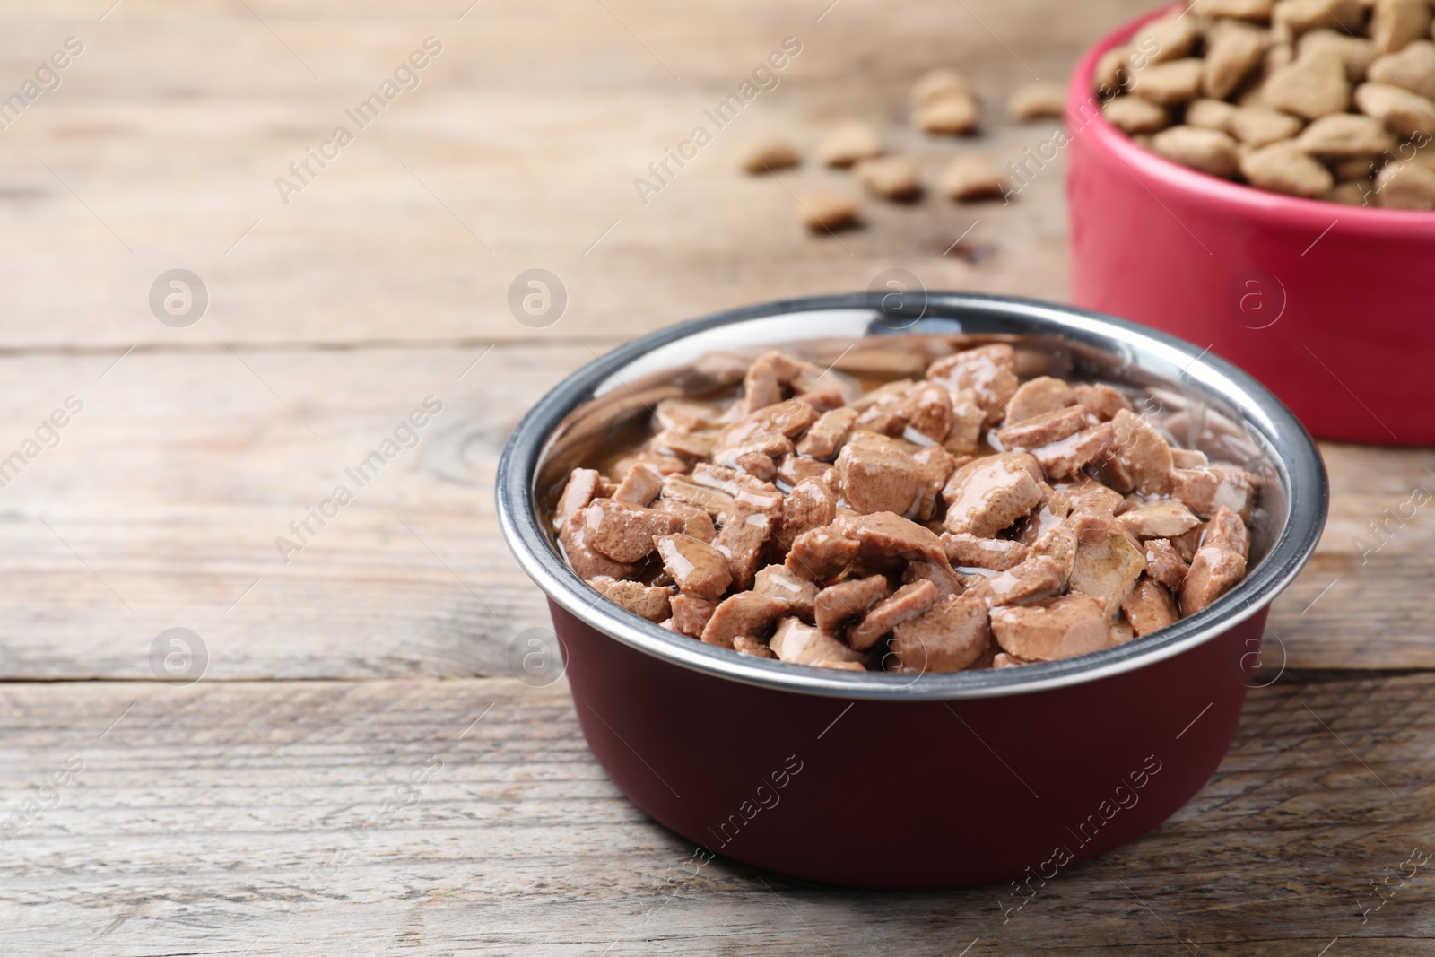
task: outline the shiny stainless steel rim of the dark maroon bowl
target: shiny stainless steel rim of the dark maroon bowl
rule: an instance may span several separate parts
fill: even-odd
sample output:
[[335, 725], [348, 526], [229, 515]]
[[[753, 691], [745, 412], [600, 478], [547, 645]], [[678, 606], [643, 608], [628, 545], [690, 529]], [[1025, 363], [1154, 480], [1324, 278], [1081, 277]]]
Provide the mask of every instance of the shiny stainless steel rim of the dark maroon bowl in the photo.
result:
[[[1137, 670], [1181, 654], [1250, 618], [1290, 584], [1320, 539], [1329, 506], [1325, 465], [1300, 422], [1251, 376], [1175, 336], [1069, 306], [1009, 296], [977, 293], [926, 294], [924, 316], [967, 320], [980, 331], [997, 331], [1000, 321], [1022, 331], [1058, 334], [1111, 353], [1141, 360], [1159, 357], [1184, 362], [1182, 376], [1204, 385], [1205, 392], [1237, 409], [1248, 430], [1273, 452], [1273, 465], [1286, 486], [1289, 512], [1270, 552], [1247, 577], [1208, 608], [1159, 633], [1075, 659], [979, 671], [891, 674], [805, 667], [738, 654], [674, 634], [601, 600], [551, 547], [535, 512], [534, 476], [550, 436], [558, 423], [617, 372], [653, 350], [690, 337], [756, 319], [832, 310], [867, 310], [883, 316], [872, 293], [817, 296], [728, 310], [669, 326], [633, 340], [588, 363], [561, 383], [524, 416], [514, 429], [497, 475], [498, 519], [509, 550], [530, 578], [561, 608], [587, 626], [633, 649], [673, 664], [718, 677], [781, 692], [864, 700], [959, 700], [1027, 694], [1045, 689], [1093, 682]], [[996, 320], [994, 323], [992, 320]], [[979, 330], [973, 330], [979, 331]], [[1251, 649], [1254, 656], [1256, 649]]]

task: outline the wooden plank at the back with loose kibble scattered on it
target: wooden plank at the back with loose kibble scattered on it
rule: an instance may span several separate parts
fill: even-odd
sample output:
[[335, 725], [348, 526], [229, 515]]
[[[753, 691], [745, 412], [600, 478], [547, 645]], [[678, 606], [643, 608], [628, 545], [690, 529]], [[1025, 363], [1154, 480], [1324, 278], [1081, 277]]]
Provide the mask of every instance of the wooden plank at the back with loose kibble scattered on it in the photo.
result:
[[[865, 288], [893, 265], [930, 288], [1059, 300], [1060, 159], [1010, 207], [870, 204], [870, 225], [834, 240], [805, 234], [788, 189], [855, 191], [847, 174], [809, 165], [779, 185], [738, 175], [732, 154], [766, 131], [811, 146], [855, 115], [920, 155], [928, 178], [959, 151], [1020, 158], [1053, 123], [1012, 125], [1006, 95], [1032, 76], [1062, 80], [1086, 44], [1149, 4], [844, 3], [818, 20], [827, 0], [544, 0], [479, 4], [459, 22], [465, 6], [369, 3], [356, 14], [270, 0], [179, 14], [126, 0], [102, 23], [89, 7], [26, 9], [0, 37], [0, 75], [32, 75], [69, 34], [86, 46], [62, 86], [4, 129], [0, 344], [631, 336]], [[426, 36], [445, 46], [420, 86], [369, 128], [347, 121]], [[644, 205], [634, 178], [786, 36], [804, 49], [779, 86], [728, 128], [706, 123], [712, 145]], [[930, 139], [907, 125], [913, 79], [951, 63], [986, 102], [983, 138]], [[276, 179], [340, 123], [354, 142], [323, 169], [311, 164], [286, 205]], [[943, 255], [969, 228], [979, 261]], [[175, 267], [211, 298], [185, 330], [155, 321], [146, 301]], [[511, 281], [532, 267], [570, 293], [561, 324], [542, 333], [507, 307]]]

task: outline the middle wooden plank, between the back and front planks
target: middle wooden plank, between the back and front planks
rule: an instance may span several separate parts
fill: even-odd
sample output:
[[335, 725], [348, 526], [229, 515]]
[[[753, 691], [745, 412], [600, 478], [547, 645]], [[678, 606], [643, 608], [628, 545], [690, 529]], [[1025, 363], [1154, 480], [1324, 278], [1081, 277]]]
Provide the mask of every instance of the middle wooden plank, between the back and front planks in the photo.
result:
[[[499, 346], [472, 369], [481, 347], [135, 352], [109, 372], [112, 356], [0, 359], [0, 458], [85, 403], [0, 489], [0, 676], [151, 677], [171, 627], [202, 637], [221, 679], [508, 674], [508, 641], [547, 611], [498, 535], [498, 453], [604, 349]], [[429, 395], [443, 412], [419, 445], [357, 488], [344, 469]], [[1325, 452], [1332, 522], [1271, 617], [1286, 666], [1435, 667], [1428, 506], [1368, 564], [1352, 547], [1415, 484], [1435, 492], [1435, 455]], [[340, 482], [354, 501], [286, 564], [276, 538], [298, 541], [290, 522]]]

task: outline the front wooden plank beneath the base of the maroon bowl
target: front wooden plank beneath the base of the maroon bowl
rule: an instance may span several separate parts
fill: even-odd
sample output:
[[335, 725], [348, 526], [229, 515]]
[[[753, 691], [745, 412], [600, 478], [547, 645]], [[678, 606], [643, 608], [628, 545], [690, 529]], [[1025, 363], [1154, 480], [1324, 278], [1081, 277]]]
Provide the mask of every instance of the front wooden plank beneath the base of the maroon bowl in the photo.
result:
[[[1435, 848], [1432, 697], [1431, 674], [1257, 690], [1190, 805], [1007, 914], [1006, 887], [871, 894], [720, 858], [684, 872], [695, 848], [604, 778], [563, 683], [11, 684], [0, 806], [83, 769], [14, 826], [0, 948], [1313, 957], [1339, 937], [1333, 957], [1426, 953], [1425, 868], [1362, 908]], [[385, 815], [435, 756], [419, 803]]]

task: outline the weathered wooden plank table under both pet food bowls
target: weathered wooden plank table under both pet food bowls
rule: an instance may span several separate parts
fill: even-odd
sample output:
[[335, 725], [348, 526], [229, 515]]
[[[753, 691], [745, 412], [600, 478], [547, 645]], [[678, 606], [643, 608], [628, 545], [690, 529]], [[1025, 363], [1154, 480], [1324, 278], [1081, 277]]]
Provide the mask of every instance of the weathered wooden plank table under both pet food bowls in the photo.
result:
[[[1330, 525], [1274, 605], [1280, 677], [1225, 763], [1015, 913], [994, 888], [690, 874], [693, 848], [594, 763], [564, 684], [511, 676], [545, 610], [499, 541], [494, 468], [565, 373], [890, 267], [1065, 297], [1059, 161], [1007, 207], [870, 204], [815, 238], [789, 191], [844, 175], [743, 178], [738, 142], [860, 116], [930, 172], [957, 149], [1004, 162], [1050, 133], [1004, 121], [1004, 92], [1062, 79], [1147, 4], [468, 1], [6, 19], [4, 90], [66, 37], [83, 50], [0, 132], [0, 459], [83, 407], [0, 488], [0, 953], [1435, 953], [1435, 877], [1412, 862], [1435, 849], [1435, 519], [1355, 544], [1435, 491], [1426, 451], [1325, 446]], [[347, 121], [430, 36], [419, 86]], [[640, 202], [633, 179], [788, 36], [779, 86]], [[947, 63], [987, 103], [982, 139], [905, 126], [907, 86]], [[276, 178], [340, 123], [353, 142], [284, 204]], [[570, 297], [542, 329], [507, 304], [535, 267]], [[207, 287], [198, 323], [156, 321], [171, 268]], [[286, 562], [276, 538], [426, 396], [418, 445]], [[156, 680], [169, 628], [207, 649], [198, 683]]]

